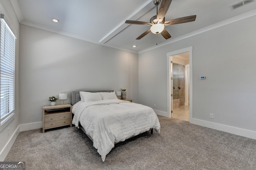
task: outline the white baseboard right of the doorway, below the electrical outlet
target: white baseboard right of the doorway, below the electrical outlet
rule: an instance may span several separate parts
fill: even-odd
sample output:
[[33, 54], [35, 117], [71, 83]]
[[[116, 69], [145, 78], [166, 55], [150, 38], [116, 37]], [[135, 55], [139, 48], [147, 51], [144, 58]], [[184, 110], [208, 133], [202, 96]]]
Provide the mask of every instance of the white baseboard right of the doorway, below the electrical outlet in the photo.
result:
[[195, 125], [199, 125], [199, 126], [202, 126], [202, 127], [207, 127], [207, 128], [220, 130], [220, 131], [223, 131], [223, 132], [228, 132], [228, 133], [231, 133], [231, 134], [236, 134], [236, 135], [239, 135], [239, 136], [244, 136], [246, 138], [256, 139], [256, 132], [252, 131], [252, 130], [246, 130], [246, 129], [242, 129], [242, 128], [231, 127], [231, 126], [228, 126], [228, 125], [212, 123], [212, 122], [203, 121], [203, 120], [200, 120], [200, 119], [192, 119], [192, 120], [190, 120], [190, 123], [195, 124]]

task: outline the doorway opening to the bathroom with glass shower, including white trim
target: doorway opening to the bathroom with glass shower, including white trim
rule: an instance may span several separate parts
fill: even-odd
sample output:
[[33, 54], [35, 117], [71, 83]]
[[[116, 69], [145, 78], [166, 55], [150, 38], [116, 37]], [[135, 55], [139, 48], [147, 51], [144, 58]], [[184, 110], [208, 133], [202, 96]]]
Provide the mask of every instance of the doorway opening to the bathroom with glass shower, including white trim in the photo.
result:
[[[192, 50], [193, 50], [193, 47], [187, 47], [184, 49], [180, 49], [177, 51], [172, 51], [172, 52], [167, 53], [168, 114], [169, 114], [169, 117], [176, 117], [179, 114], [179, 116], [180, 116], [179, 119], [182, 119], [184, 121], [190, 121], [190, 123], [192, 123]], [[185, 54], [183, 54], [183, 53], [185, 53]], [[181, 57], [182, 55], [187, 55], [187, 58], [180, 59], [180, 58], [182, 58]], [[187, 61], [184, 62], [184, 60], [187, 60]], [[184, 73], [184, 77], [185, 77], [185, 80], [184, 80], [185, 85], [183, 87], [179, 86], [179, 83], [176, 83], [177, 87], [175, 87], [173, 84], [174, 78], [182, 78], [182, 75], [175, 75], [174, 70], [172, 68], [173, 63], [182, 65], [180, 67], [181, 67], [181, 70], [183, 69], [183, 73]], [[176, 76], [176, 77], [173, 77], [173, 73], [174, 73], [174, 76]], [[180, 101], [178, 101], [178, 100], [173, 101], [173, 97], [174, 97], [174, 92], [175, 92], [174, 90], [178, 90], [178, 93], [179, 92], [182, 93], [182, 91], [179, 91], [182, 88], [183, 88], [183, 90], [185, 90], [185, 96], [183, 97], [182, 102], [180, 104]], [[177, 91], [175, 93], [177, 93]], [[179, 99], [180, 97], [176, 97], [176, 99], [177, 98]], [[174, 97], [174, 99], [175, 99], [175, 97]], [[177, 107], [177, 106], [179, 106], [179, 107]], [[176, 112], [176, 114], [174, 112]]]

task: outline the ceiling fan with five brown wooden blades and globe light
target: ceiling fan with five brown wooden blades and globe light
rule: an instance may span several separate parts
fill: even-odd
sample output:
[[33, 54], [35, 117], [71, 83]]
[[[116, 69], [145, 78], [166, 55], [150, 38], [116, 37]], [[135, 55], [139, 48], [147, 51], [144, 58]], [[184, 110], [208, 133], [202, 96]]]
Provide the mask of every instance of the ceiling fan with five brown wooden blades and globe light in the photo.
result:
[[164, 26], [181, 24], [186, 22], [192, 22], [196, 20], [196, 15], [186, 16], [182, 18], [176, 18], [173, 20], [165, 21], [165, 14], [168, 11], [172, 0], [162, 0], [160, 8], [158, 10], [158, 4], [160, 4], [161, 0], [154, 0], [154, 4], [156, 5], [156, 16], [153, 16], [150, 19], [150, 22], [141, 22], [141, 21], [131, 21], [126, 20], [126, 24], [138, 24], [138, 25], [147, 25], [151, 26], [149, 30], [138, 36], [136, 40], [140, 40], [142, 37], [146, 36], [148, 33], [152, 32], [154, 34], [161, 34], [166, 40], [171, 38], [171, 35], [166, 31]]

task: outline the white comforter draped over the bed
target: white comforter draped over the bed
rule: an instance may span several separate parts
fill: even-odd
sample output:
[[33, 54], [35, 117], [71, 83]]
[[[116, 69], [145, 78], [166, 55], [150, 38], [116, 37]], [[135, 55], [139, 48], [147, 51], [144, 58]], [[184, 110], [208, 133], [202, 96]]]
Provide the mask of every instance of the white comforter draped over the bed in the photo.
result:
[[[150, 128], [160, 133], [160, 123], [152, 108], [119, 99], [79, 101], [72, 107], [72, 124], [78, 123], [92, 137], [102, 161], [115, 142], [138, 135]], [[79, 127], [78, 127], [79, 128]]]

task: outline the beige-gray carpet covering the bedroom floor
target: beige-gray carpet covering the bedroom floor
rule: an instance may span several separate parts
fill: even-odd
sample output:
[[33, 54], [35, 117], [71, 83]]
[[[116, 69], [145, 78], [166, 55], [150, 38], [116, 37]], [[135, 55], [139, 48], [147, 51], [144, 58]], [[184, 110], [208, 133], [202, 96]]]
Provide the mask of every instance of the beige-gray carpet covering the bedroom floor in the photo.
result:
[[159, 116], [160, 134], [143, 133], [116, 144], [102, 162], [75, 127], [20, 132], [5, 161], [26, 170], [255, 170], [256, 140]]

